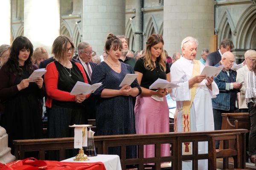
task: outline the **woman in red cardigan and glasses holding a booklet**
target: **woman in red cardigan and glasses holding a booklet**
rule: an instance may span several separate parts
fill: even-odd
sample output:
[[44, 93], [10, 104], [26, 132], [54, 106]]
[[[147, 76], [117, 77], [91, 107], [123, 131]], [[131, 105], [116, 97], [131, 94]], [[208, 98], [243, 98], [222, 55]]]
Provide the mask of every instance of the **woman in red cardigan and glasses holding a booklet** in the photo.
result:
[[70, 95], [77, 81], [86, 82], [83, 66], [70, 61], [74, 53], [74, 44], [66, 36], [57, 37], [52, 45], [52, 54], [56, 61], [46, 67], [44, 82], [47, 92], [46, 106], [50, 108], [48, 116], [49, 138], [74, 136], [73, 124], [86, 124], [86, 113], [82, 102], [90, 95]]

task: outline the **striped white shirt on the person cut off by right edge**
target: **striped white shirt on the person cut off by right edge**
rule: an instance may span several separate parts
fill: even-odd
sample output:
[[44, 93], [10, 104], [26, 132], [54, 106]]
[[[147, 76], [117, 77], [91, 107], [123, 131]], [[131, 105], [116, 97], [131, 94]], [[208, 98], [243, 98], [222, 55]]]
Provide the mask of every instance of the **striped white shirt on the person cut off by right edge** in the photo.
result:
[[245, 100], [248, 105], [249, 102], [256, 103], [256, 75], [253, 71], [249, 71], [244, 79], [244, 85], [246, 88], [245, 91]]

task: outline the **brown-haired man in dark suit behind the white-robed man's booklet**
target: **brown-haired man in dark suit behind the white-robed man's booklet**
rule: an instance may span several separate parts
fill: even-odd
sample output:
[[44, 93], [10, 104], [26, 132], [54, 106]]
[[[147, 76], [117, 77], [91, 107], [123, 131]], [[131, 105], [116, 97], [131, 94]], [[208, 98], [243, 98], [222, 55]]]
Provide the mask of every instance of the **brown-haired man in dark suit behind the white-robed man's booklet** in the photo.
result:
[[234, 48], [234, 44], [231, 39], [223, 39], [220, 44], [220, 48], [217, 51], [210, 53], [207, 56], [207, 60], [205, 62], [205, 66], [215, 66], [218, 62], [221, 61], [222, 55], [226, 51], [231, 51]]

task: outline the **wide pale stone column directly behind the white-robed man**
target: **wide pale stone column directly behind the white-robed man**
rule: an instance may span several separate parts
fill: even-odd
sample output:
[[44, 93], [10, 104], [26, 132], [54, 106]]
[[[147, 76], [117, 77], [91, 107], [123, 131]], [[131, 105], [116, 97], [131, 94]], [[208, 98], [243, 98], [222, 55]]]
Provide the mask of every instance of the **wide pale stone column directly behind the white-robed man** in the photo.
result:
[[203, 48], [213, 51], [213, 0], [166, 0], [163, 22], [164, 48], [168, 53], [181, 52], [181, 41], [188, 36], [198, 39], [196, 59], [201, 58]]

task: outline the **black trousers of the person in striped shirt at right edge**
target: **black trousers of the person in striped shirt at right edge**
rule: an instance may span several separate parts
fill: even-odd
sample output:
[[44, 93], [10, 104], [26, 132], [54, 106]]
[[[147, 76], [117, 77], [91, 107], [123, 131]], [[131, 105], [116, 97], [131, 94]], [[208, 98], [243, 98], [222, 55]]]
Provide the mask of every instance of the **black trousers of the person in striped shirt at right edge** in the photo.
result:
[[249, 155], [256, 154], [256, 107], [254, 103], [248, 103], [249, 116], [250, 116], [250, 134], [249, 134]]

